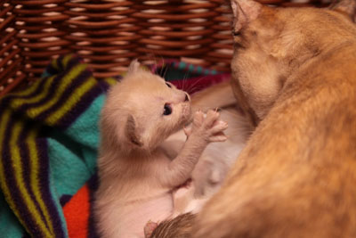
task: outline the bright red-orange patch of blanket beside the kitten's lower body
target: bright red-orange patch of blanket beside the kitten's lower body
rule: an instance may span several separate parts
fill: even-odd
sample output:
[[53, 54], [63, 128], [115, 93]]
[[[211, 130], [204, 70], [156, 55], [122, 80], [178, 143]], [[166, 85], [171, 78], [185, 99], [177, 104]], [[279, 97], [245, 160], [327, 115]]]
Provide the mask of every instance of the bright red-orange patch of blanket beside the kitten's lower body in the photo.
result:
[[89, 189], [84, 185], [63, 207], [71, 238], [86, 238], [90, 215]]

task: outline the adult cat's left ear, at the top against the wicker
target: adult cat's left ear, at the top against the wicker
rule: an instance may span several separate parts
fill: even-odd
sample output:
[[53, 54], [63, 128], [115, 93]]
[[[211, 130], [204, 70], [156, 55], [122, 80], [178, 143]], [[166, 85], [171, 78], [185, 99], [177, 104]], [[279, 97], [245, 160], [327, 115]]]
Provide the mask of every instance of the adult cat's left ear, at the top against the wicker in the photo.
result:
[[250, 21], [254, 21], [261, 12], [263, 5], [253, 0], [231, 0], [233, 12], [233, 32], [239, 32]]

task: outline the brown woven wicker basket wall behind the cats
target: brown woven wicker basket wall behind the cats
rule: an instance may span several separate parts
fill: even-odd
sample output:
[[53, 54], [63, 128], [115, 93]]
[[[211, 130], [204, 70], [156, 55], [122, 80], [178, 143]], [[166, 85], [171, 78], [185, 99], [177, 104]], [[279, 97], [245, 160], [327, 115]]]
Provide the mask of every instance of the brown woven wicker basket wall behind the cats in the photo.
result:
[[[322, 4], [310, 1], [261, 0]], [[227, 2], [2, 0], [0, 95], [39, 77], [62, 53], [83, 56], [96, 78], [119, 74], [134, 58], [147, 63], [178, 58], [227, 71], [232, 53]]]

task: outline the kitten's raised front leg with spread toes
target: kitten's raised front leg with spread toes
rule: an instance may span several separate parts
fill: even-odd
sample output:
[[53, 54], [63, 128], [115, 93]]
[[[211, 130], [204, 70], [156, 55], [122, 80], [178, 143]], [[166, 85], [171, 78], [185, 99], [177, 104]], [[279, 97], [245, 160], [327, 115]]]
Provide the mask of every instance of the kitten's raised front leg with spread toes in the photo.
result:
[[207, 111], [206, 117], [202, 111], [194, 114], [190, 135], [182, 151], [168, 164], [166, 171], [161, 173], [162, 182], [170, 187], [182, 185], [190, 178], [191, 172], [198, 162], [199, 157], [211, 142], [223, 142], [227, 138], [223, 130], [228, 124], [219, 119], [217, 111]]

